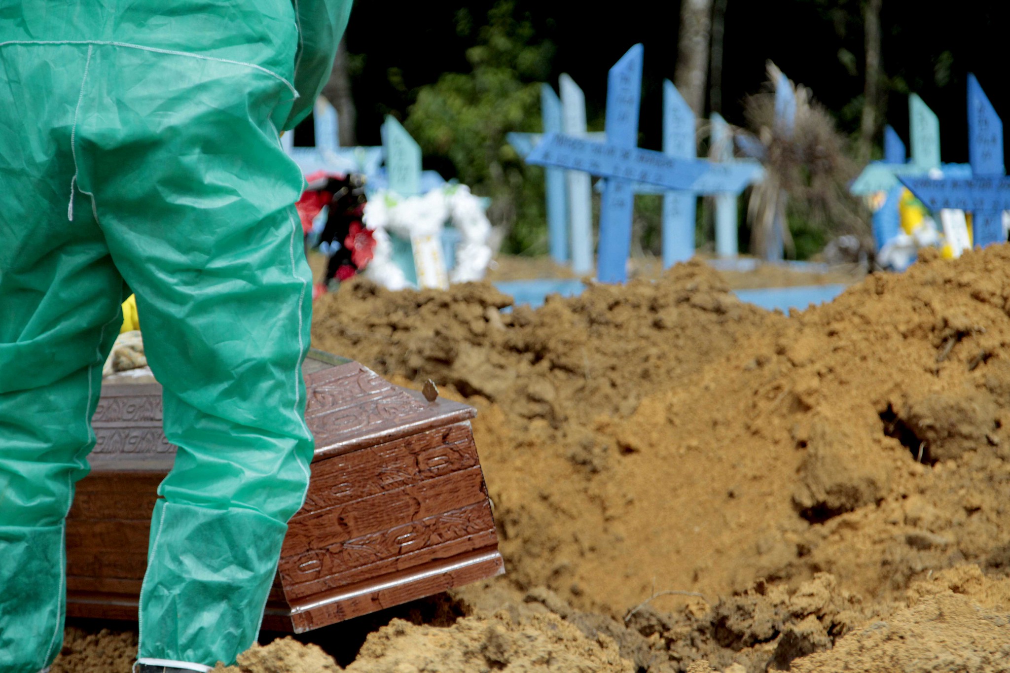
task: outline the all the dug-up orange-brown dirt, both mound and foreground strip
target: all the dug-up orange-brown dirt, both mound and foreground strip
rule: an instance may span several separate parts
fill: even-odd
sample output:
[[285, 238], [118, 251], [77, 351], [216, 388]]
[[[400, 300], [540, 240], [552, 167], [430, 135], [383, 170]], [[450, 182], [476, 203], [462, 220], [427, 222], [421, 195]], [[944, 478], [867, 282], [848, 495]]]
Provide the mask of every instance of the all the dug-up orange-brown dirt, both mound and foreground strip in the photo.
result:
[[[792, 318], [729, 290], [321, 299], [315, 347], [479, 409], [508, 575], [227, 670], [1010, 670], [1010, 249]], [[131, 637], [71, 631], [54, 670]]]

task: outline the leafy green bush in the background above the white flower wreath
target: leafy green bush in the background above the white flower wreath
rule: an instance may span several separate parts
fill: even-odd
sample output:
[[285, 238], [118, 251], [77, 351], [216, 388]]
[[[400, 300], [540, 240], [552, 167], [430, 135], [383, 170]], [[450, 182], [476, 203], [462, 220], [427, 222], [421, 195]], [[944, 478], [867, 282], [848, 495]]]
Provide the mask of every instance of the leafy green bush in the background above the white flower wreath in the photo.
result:
[[[474, 32], [474, 16], [457, 14], [461, 36]], [[543, 172], [526, 165], [505, 135], [541, 130], [540, 85], [550, 73], [553, 45], [533, 41], [528, 19], [500, 0], [467, 49], [469, 73], [444, 73], [417, 90], [404, 123], [426, 158], [447, 160], [460, 182], [491, 197], [491, 222], [505, 234], [507, 252], [544, 252]]]

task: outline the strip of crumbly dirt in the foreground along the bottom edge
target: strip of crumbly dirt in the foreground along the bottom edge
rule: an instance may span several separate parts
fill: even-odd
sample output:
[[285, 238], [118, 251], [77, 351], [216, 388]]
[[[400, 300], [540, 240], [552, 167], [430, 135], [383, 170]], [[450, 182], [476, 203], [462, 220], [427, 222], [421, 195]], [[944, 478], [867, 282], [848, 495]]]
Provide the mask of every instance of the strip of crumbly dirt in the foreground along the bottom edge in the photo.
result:
[[[489, 591], [490, 588], [490, 591]], [[619, 620], [573, 608], [549, 589], [525, 595], [469, 587], [488, 611], [442, 626], [393, 620], [372, 633], [345, 670], [648, 671], [764, 673], [1005, 671], [1010, 579], [963, 565], [914, 582], [903, 600], [866, 603], [821, 573], [796, 589], [759, 581], [714, 605], [673, 613], [647, 604]], [[494, 597], [488, 600], [488, 594]], [[832, 649], [833, 648], [833, 649]], [[286, 638], [254, 647], [220, 673], [341, 670], [315, 645]]]

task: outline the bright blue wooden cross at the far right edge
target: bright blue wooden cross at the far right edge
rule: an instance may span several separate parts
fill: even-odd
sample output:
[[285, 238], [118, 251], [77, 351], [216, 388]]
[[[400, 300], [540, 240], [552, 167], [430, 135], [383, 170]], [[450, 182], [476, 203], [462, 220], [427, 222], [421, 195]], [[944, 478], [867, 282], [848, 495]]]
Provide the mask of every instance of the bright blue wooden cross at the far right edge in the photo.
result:
[[985, 247], [1006, 241], [1003, 211], [1010, 210], [1010, 179], [1004, 175], [1003, 122], [974, 75], [968, 76], [968, 132], [971, 178], [899, 180], [932, 211], [971, 211], [973, 243]]

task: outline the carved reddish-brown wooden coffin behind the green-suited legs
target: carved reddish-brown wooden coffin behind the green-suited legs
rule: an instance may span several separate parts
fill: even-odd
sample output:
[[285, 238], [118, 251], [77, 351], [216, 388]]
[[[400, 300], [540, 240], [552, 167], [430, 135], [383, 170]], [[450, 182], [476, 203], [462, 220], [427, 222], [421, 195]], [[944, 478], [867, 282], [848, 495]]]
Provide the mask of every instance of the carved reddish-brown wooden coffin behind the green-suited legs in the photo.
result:
[[[318, 351], [304, 373], [312, 480], [264, 629], [301, 633], [504, 572], [471, 407]], [[92, 472], [67, 522], [67, 613], [135, 620], [156, 489], [175, 457], [161, 385], [104, 385], [93, 424]]]

